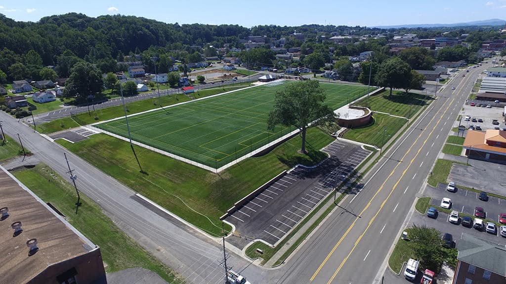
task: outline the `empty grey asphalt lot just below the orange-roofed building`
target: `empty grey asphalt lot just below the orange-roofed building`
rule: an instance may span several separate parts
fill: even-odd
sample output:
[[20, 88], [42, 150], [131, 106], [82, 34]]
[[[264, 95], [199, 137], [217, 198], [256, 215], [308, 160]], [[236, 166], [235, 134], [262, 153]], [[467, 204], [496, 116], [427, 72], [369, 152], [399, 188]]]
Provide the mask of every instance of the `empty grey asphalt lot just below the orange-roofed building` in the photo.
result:
[[480, 160], [469, 160], [472, 165], [453, 164], [448, 180], [457, 185], [506, 196], [506, 165]]

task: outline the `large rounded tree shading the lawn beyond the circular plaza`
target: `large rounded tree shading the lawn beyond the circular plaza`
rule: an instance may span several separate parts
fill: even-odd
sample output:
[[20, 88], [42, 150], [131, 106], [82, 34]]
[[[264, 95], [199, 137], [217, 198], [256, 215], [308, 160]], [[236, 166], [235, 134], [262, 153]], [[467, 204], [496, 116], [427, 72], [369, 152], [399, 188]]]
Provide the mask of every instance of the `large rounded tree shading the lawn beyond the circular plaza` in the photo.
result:
[[392, 89], [405, 88], [409, 85], [410, 76], [411, 67], [409, 64], [398, 57], [394, 57], [379, 66], [374, 80], [382, 87], [389, 87], [392, 95]]

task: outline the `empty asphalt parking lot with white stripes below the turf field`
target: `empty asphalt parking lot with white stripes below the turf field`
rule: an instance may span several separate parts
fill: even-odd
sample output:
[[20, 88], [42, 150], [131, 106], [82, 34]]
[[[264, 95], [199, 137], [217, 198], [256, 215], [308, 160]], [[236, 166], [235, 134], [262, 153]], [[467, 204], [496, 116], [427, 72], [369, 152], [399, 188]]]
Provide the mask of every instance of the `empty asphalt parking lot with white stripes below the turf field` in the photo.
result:
[[240, 235], [275, 245], [371, 153], [340, 140], [323, 151], [330, 158], [319, 166], [290, 170], [225, 220]]

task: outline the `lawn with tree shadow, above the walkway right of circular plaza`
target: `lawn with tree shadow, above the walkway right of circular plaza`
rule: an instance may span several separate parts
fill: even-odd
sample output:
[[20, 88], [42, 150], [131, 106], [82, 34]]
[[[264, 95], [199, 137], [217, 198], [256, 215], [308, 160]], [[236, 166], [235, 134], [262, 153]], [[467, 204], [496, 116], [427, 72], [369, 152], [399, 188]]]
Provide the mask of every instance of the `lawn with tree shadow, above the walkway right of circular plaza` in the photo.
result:
[[387, 89], [381, 93], [369, 96], [356, 105], [367, 107], [373, 111], [389, 113], [391, 115], [402, 117], [413, 117], [426, 102], [432, 100], [431, 97], [418, 93], [407, 93], [404, 91], [390, 91]]

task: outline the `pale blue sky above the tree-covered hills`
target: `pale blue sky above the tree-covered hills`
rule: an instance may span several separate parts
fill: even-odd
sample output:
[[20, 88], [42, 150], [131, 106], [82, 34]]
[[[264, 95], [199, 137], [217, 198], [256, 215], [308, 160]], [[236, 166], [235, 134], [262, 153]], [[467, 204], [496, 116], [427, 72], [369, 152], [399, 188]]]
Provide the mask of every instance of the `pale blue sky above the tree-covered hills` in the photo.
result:
[[0, 13], [18, 21], [84, 13], [134, 15], [167, 23], [260, 24], [297, 26], [398, 25], [456, 23], [506, 18], [506, 0], [256, 0], [256, 1], [111, 1], [111, 0], [0, 0]]

